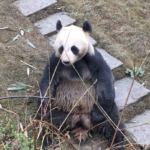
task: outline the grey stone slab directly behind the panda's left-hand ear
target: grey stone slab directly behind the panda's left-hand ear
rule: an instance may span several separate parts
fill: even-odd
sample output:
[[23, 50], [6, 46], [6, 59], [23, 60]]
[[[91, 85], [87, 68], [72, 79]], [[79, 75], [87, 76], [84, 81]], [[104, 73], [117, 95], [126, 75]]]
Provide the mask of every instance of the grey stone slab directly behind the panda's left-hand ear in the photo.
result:
[[52, 35], [56, 32], [57, 20], [60, 20], [63, 26], [68, 26], [76, 21], [75, 19], [67, 16], [65, 13], [56, 13], [36, 22], [34, 25], [39, 29], [42, 35]]

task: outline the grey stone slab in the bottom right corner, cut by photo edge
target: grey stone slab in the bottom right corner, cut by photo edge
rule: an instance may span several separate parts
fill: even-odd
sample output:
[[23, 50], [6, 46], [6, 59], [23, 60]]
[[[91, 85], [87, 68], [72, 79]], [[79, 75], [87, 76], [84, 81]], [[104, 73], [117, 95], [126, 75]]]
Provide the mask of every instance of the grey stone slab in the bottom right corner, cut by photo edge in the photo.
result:
[[[147, 122], [149, 122], [149, 124], [137, 126]], [[126, 123], [125, 126], [137, 143], [140, 143], [141, 145], [150, 144], [150, 110], [146, 110], [143, 114], [137, 115], [130, 121], [130, 123]]]

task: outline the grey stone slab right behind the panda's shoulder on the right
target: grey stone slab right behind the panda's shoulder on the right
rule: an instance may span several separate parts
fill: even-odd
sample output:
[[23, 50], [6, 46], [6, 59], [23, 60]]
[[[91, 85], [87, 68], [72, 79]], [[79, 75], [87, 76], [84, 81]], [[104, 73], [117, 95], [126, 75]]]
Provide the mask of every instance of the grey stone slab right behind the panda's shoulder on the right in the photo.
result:
[[96, 49], [101, 53], [104, 60], [107, 62], [108, 66], [110, 67], [110, 69], [117, 68], [123, 64], [120, 60], [108, 54], [104, 49], [100, 49], [97, 47]]

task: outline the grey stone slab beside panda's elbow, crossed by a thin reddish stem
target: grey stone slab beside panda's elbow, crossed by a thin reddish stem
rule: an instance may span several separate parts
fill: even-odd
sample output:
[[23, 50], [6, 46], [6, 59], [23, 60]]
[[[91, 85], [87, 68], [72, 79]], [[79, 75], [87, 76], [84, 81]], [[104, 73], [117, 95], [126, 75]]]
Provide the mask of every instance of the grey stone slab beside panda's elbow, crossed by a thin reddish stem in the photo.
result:
[[[116, 92], [115, 101], [119, 110], [123, 109], [131, 83], [132, 83], [132, 78], [129, 77], [125, 77], [115, 82], [115, 92]], [[137, 81], [134, 81], [127, 105], [136, 102], [137, 100], [147, 95], [148, 93], [150, 93], [149, 90], [147, 90]]]

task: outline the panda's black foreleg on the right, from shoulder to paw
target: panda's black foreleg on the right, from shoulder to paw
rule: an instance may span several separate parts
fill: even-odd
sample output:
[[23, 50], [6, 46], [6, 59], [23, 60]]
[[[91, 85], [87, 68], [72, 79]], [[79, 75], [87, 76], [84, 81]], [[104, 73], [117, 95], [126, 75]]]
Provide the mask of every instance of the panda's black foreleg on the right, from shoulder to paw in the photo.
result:
[[[108, 114], [111, 111], [115, 99], [114, 78], [112, 72], [102, 55], [96, 49], [94, 55], [86, 54], [84, 60], [89, 67], [92, 82], [94, 83], [97, 81], [95, 89], [98, 103]], [[104, 115], [97, 106], [94, 106], [93, 110], [92, 115], [95, 116], [95, 120], [105, 120]], [[100, 115], [96, 115], [95, 113], [97, 112], [99, 112]]]

